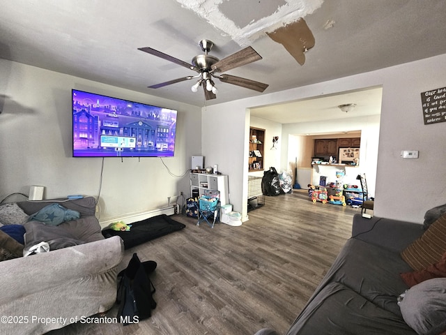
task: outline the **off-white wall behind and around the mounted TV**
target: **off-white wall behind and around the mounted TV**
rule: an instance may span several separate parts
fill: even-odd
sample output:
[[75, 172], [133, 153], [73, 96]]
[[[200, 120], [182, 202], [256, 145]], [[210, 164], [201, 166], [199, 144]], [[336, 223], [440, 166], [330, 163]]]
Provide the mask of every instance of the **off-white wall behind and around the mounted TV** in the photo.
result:
[[[98, 194], [102, 158], [72, 158], [71, 89], [178, 110], [176, 175], [201, 152], [201, 109], [79, 77], [0, 59], [0, 198], [45, 186], [45, 198]], [[194, 131], [190, 131], [194, 129]], [[100, 218], [164, 207], [167, 197], [189, 191], [189, 174], [171, 177], [160, 158], [105, 158]]]

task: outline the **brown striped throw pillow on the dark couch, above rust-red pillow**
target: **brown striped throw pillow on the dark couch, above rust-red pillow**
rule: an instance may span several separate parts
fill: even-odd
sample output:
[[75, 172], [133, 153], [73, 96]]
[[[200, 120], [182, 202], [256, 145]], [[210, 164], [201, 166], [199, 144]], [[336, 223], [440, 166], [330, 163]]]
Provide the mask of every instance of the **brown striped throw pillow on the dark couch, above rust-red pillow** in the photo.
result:
[[401, 252], [410, 267], [420, 271], [440, 262], [446, 253], [446, 213], [432, 223], [421, 237]]

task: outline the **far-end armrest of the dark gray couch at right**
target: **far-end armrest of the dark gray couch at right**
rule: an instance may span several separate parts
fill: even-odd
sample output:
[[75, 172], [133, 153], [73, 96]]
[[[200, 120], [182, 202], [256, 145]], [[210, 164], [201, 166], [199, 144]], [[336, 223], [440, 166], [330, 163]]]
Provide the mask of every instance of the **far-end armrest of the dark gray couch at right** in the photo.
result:
[[423, 234], [423, 225], [390, 218], [353, 216], [352, 238], [401, 252]]

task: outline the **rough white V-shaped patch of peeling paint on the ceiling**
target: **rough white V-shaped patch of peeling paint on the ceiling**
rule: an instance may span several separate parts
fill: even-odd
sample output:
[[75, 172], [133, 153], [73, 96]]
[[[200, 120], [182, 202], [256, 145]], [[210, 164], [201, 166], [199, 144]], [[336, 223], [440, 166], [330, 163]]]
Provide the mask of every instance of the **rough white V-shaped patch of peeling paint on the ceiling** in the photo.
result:
[[[226, 2], [232, 5], [240, 5], [238, 0], [176, 0], [184, 8], [193, 10], [197, 15], [206, 20], [213, 27], [222, 31], [222, 35], [229, 35], [240, 45], [245, 47], [250, 45], [254, 40], [265, 36], [267, 32], [275, 31], [280, 27], [295, 22], [309, 14], [312, 14], [316, 9], [322, 6], [323, 0], [284, 0], [277, 1], [278, 7], [270, 6], [270, 10], [274, 12], [270, 15], [261, 17], [259, 20], [251, 20], [245, 27], [238, 27], [240, 20], [234, 22], [230, 17], [237, 18], [237, 12], [240, 12], [240, 6], [225, 6]], [[237, 2], [237, 3], [236, 3]], [[256, 5], [263, 6], [264, 1], [249, 1], [249, 5], [254, 7]], [[280, 6], [280, 3], [284, 3]], [[222, 13], [222, 8], [224, 13]], [[233, 10], [234, 14], [231, 14]], [[256, 8], [252, 8], [253, 11]], [[238, 13], [239, 14], [239, 13]]]

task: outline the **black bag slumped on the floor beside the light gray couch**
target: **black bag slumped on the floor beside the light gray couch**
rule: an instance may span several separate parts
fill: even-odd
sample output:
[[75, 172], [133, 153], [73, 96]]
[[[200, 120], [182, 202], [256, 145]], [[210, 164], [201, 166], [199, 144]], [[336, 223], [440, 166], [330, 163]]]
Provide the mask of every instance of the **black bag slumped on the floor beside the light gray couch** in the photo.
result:
[[124, 326], [137, 323], [151, 317], [156, 302], [153, 299], [155, 287], [148, 274], [155, 271], [157, 264], [153, 260], [141, 262], [136, 253], [128, 263], [128, 267], [119, 272], [116, 303], [119, 305], [117, 318]]

